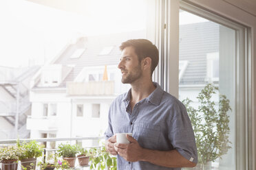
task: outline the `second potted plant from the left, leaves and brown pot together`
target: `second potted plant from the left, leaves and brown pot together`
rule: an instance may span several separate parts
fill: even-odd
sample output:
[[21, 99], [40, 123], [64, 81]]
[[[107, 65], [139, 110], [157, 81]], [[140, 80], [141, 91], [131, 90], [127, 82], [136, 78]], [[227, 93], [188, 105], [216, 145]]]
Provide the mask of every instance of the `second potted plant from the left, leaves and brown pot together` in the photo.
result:
[[23, 143], [21, 145], [18, 140], [17, 145], [22, 150], [21, 156], [19, 156], [19, 160], [21, 160], [21, 169], [35, 169], [36, 158], [42, 156], [43, 149], [41, 149], [36, 141], [30, 141], [29, 143]]

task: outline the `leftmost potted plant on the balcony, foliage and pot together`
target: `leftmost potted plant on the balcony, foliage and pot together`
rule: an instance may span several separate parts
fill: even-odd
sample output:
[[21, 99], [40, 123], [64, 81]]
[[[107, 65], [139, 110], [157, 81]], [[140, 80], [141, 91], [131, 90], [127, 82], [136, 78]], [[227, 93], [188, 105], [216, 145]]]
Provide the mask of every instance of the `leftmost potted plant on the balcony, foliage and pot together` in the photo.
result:
[[21, 156], [21, 149], [17, 146], [0, 148], [2, 170], [17, 170], [19, 156]]

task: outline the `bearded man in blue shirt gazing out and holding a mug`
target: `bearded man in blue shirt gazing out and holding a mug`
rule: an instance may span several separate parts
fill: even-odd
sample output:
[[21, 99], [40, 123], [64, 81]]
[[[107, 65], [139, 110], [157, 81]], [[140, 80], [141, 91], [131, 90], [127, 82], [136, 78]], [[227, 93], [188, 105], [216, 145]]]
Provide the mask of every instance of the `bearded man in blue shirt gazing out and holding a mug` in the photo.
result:
[[[131, 84], [109, 108], [105, 148], [117, 155], [118, 169], [195, 167], [198, 156], [191, 121], [183, 104], [152, 82], [158, 49], [149, 40], [127, 40], [120, 46], [122, 83]], [[129, 144], [116, 143], [116, 133]]]

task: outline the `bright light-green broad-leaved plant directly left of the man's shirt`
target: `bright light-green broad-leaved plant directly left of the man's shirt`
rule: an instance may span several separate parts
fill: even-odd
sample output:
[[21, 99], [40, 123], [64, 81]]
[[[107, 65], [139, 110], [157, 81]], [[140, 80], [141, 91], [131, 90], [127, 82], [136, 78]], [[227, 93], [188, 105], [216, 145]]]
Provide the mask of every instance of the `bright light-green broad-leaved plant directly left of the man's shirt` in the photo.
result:
[[90, 152], [90, 169], [96, 169], [98, 167], [98, 170], [104, 170], [107, 166], [107, 169], [109, 170], [116, 170], [117, 164], [116, 164], [116, 156], [111, 156], [106, 149], [105, 145], [101, 147], [95, 147], [92, 149], [89, 149]]

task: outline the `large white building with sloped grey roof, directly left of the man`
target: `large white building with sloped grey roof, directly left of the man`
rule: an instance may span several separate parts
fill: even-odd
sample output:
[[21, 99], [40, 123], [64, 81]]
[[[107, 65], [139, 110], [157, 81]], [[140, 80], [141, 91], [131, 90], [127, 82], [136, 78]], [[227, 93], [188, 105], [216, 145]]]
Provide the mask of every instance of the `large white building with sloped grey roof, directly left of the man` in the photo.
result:
[[[129, 89], [120, 82], [117, 65], [121, 42], [131, 38], [145, 38], [145, 33], [78, 38], [43, 66], [31, 82], [30, 137], [103, 135], [111, 101]], [[98, 145], [98, 141], [83, 141], [83, 145]]]

